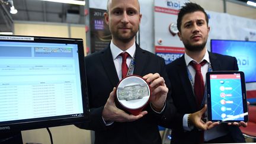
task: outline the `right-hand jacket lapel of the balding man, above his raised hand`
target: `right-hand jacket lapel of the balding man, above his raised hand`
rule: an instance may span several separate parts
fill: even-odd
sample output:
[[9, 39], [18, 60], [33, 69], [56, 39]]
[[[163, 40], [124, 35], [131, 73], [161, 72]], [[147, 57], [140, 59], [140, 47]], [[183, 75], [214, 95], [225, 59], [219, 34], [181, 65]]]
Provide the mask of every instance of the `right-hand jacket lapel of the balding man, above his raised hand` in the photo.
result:
[[146, 57], [145, 51], [142, 50], [136, 44], [136, 53], [135, 53], [135, 68], [133, 74], [135, 75], [142, 75], [143, 69], [146, 66], [148, 57]]

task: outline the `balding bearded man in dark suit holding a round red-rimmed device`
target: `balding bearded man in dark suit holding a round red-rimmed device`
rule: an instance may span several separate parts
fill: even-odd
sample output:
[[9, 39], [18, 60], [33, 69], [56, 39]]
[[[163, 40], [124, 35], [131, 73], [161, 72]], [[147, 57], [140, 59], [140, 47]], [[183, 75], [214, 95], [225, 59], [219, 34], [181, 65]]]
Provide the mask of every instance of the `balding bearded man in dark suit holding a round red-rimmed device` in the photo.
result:
[[[109, 0], [104, 17], [112, 40], [106, 49], [85, 57], [90, 120], [76, 126], [94, 130], [96, 144], [159, 144], [158, 121], [161, 114], [165, 109], [174, 110], [169, 108], [171, 104], [165, 104], [169, 81], [164, 59], [135, 43], [142, 17], [137, 0]], [[143, 76], [151, 87], [150, 103], [137, 116], [117, 108], [114, 102], [115, 87], [122, 78], [120, 53], [124, 52], [129, 54], [128, 66], [135, 55], [133, 75]]]

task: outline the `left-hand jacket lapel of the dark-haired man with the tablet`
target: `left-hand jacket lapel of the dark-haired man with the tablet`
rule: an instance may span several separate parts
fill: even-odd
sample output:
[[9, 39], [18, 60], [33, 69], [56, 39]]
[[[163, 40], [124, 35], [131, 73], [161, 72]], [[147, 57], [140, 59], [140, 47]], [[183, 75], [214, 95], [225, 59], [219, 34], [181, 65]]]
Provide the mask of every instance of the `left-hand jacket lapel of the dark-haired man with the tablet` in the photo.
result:
[[194, 92], [191, 86], [191, 82], [188, 78], [187, 66], [185, 65], [184, 55], [178, 61], [177, 71], [181, 79], [181, 84], [183, 85], [185, 97], [187, 98], [188, 103], [190, 104], [191, 108], [193, 108], [193, 111], [197, 110], [196, 98], [193, 94]]

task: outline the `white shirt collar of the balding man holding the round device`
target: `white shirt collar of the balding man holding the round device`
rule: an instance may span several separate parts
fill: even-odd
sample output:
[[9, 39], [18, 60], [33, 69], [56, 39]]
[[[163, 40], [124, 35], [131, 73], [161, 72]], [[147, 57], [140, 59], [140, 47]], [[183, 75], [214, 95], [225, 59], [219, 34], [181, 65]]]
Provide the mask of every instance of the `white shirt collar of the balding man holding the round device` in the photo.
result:
[[[129, 49], [127, 49], [125, 52], [129, 53], [130, 57], [133, 57], [133, 55], [135, 54], [135, 49], [136, 49], [136, 45], [135, 45], [135, 43], [133, 43], [133, 45], [131, 47], [129, 47]], [[112, 40], [110, 43], [110, 50], [111, 50], [113, 59], [116, 59], [117, 56], [120, 55], [120, 53], [124, 52], [123, 50], [119, 49], [119, 47], [114, 45]]]

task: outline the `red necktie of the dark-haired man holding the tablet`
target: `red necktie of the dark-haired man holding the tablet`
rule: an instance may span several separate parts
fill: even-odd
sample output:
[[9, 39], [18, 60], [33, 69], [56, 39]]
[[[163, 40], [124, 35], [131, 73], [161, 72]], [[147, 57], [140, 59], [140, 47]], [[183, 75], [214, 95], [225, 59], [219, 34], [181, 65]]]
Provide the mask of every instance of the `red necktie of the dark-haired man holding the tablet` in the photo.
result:
[[[200, 108], [200, 105], [203, 101], [204, 97], [204, 81], [203, 81], [203, 75], [201, 74], [201, 66], [206, 64], [206, 60], [203, 60], [203, 62], [196, 63], [191, 62], [191, 65], [196, 70], [196, 76], [194, 81], [194, 94], [197, 98], [197, 106]], [[199, 143], [204, 143], [204, 131], [199, 131]]]

